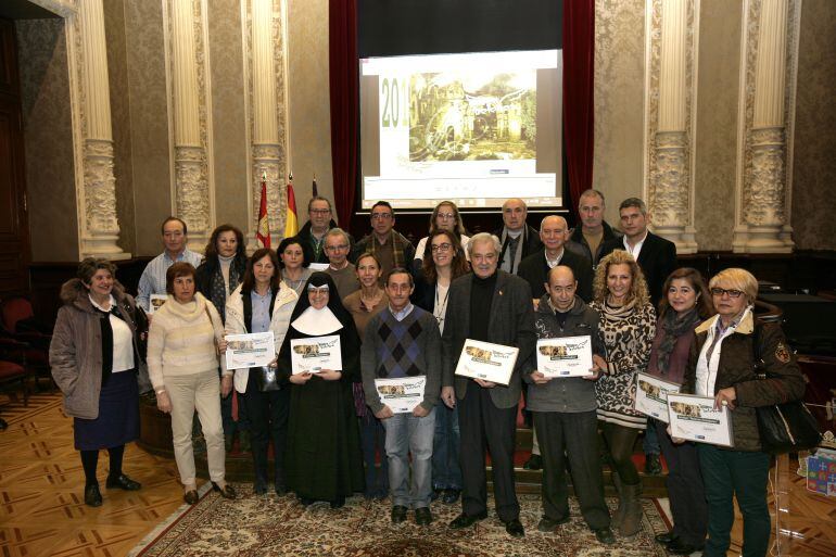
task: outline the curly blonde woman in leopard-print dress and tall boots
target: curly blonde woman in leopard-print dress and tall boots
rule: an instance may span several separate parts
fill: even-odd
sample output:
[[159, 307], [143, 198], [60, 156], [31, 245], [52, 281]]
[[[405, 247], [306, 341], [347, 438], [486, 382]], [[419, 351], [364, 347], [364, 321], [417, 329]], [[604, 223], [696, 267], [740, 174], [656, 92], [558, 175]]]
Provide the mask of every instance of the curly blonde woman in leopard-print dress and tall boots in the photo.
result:
[[638, 432], [647, 425], [647, 418], [633, 408], [635, 379], [637, 371], [647, 371], [656, 312], [642, 269], [622, 250], [600, 259], [593, 291], [591, 307], [600, 314], [599, 331], [607, 349], [607, 369], [595, 382], [595, 397], [619, 494], [612, 526], [629, 536], [642, 526], [642, 480], [632, 457]]

